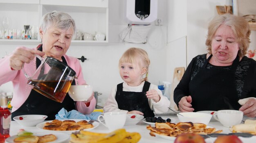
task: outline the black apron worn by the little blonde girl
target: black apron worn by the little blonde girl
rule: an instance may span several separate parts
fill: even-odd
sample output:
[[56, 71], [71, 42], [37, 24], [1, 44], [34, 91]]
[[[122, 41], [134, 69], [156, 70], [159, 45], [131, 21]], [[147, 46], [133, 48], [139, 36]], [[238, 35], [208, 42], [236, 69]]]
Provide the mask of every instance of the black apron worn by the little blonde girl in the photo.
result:
[[118, 84], [116, 93], [118, 108], [127, 111], [141, 111], [144, 113], [144, 118], [155, 117], [146, 97], [146, 91], [149, 90], [149, 87], [150, 83], [145, 81], [142, 92], [131, 92], [123, 91], [123, 83]]

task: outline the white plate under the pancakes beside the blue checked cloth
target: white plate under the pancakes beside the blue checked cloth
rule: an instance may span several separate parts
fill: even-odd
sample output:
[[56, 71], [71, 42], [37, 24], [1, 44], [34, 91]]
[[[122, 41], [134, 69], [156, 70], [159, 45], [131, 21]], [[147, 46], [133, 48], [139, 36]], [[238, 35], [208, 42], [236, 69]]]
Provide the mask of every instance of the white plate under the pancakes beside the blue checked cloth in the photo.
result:
[[[74, 120], [76, 122], [81, 121], [81, 119], [70, 119], [70, 120]], [[60, 121], [65, 121], [65, 120], [60, 120]], [[90, 121], [90, 120], [86, 120], [86, 121]], [[43, 127], [45, 126], [46, 122], [52, 122], [52, 121], [45, 121], [43, 123], [39, 123], [39, 124], [36, 125], [36, 128], [38, 128], [40, 130], [43, 130], [43, 131], [62, 132], [62, 133], [66, 133], [66, 134], [71, 134], [72, 132], [79, 131], [79, 130], [45, 130], [45, 129], [43, 129]], [[97, 126], [99, 126], [99, 123], [97, 121], [94, 121], [92, 123], [92, 125], [93, 125], [92, 128], [83, 129], [83, 130], [86, 130], [86, 131], [92, 130], [92, 129], [96, 128]]]

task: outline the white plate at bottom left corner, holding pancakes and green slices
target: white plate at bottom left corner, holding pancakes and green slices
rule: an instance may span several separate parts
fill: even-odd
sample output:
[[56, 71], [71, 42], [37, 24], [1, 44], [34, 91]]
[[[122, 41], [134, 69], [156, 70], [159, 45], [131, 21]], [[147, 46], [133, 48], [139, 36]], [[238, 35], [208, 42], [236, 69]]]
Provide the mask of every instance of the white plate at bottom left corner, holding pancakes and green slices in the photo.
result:
[[[51, 142], [48, 142], [48, 143], [63, 143], [65, 141], [68, 141], [68, 139], [70, 138], [70, 135], [69, 134], [64, 134], [64, 133], [61, 133], [61, 132], [33, 132], [33, 135], [34, 136], [44, 136], [46, 134], [54, 134], [57, 139], [55, 141], [51, 141]], [[17, 135], [15, 136], [11, 136], [9, 138], [7, 138], [5, 140], [6, 143], [14, 143], [13, 142], [13, 139], [15, 139], [16, 137], [18, 137]]]

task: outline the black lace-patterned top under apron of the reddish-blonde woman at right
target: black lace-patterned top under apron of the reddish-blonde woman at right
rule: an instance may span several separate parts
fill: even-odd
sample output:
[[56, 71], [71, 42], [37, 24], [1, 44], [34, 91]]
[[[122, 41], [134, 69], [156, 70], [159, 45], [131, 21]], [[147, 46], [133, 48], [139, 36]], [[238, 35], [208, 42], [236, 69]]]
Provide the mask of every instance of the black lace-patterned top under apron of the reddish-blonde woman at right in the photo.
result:
[[[207, 60], [206, 55], [207, 54], [196, 56], [187, 67], [182, 80], [174, 91], [174, 101], [177, 105], [182, 97], [189, 95], [189, 82], [198, 74], [200, 68], [204, 65], [204, 62]], [[206, 68], [211, 69], [213, 66], [214, 65], [207, 63]], [[231, 65], [215, 67], [231, 71]], [[239, 99], [256, 97], [256, 61], [244, 56], [236, 67], [234, 78]]]

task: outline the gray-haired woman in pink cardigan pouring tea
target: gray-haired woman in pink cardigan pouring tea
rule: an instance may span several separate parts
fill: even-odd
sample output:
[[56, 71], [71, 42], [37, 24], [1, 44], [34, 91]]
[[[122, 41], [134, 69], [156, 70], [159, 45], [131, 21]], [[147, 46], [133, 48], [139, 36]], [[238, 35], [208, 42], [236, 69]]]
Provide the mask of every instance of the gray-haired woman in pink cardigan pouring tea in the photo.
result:
[[65, 96], [62, 103], [55, 102], [46, 98], [27, 85], [22, 65], [27, 63], [29, 69], [25, 69], [27, 74], [33, 74], [41, 61], [34, 56], [38, 54], [45, 58], [50, 56], [66, 63], [75, 72], [77, 79], [73, 80], [72, 85], [85, 85], [82, 68], [77, 58], [67, 56], [66, 52], [70, 47], [72, 36], [76, 30], [74, 20], [70, 15], [63, 12], [52, 11], [43, 15], [40, 23], [40, 38], [42, 44], [34, 49], [18, 47], [9, 56], [0, 60], [0, 85], [11, 81], [13, 83], [13, 99], [11, 100], [11, 117], [27, 114], [47, 115], [47, 120], [55, 119], [55, 115], [61, 108], [67, 111], [77, 110], [83, 114], [90, 114], [95, 108], [96, 100], [92, 94], [88, 101], [74, 102], [70, 96]]

